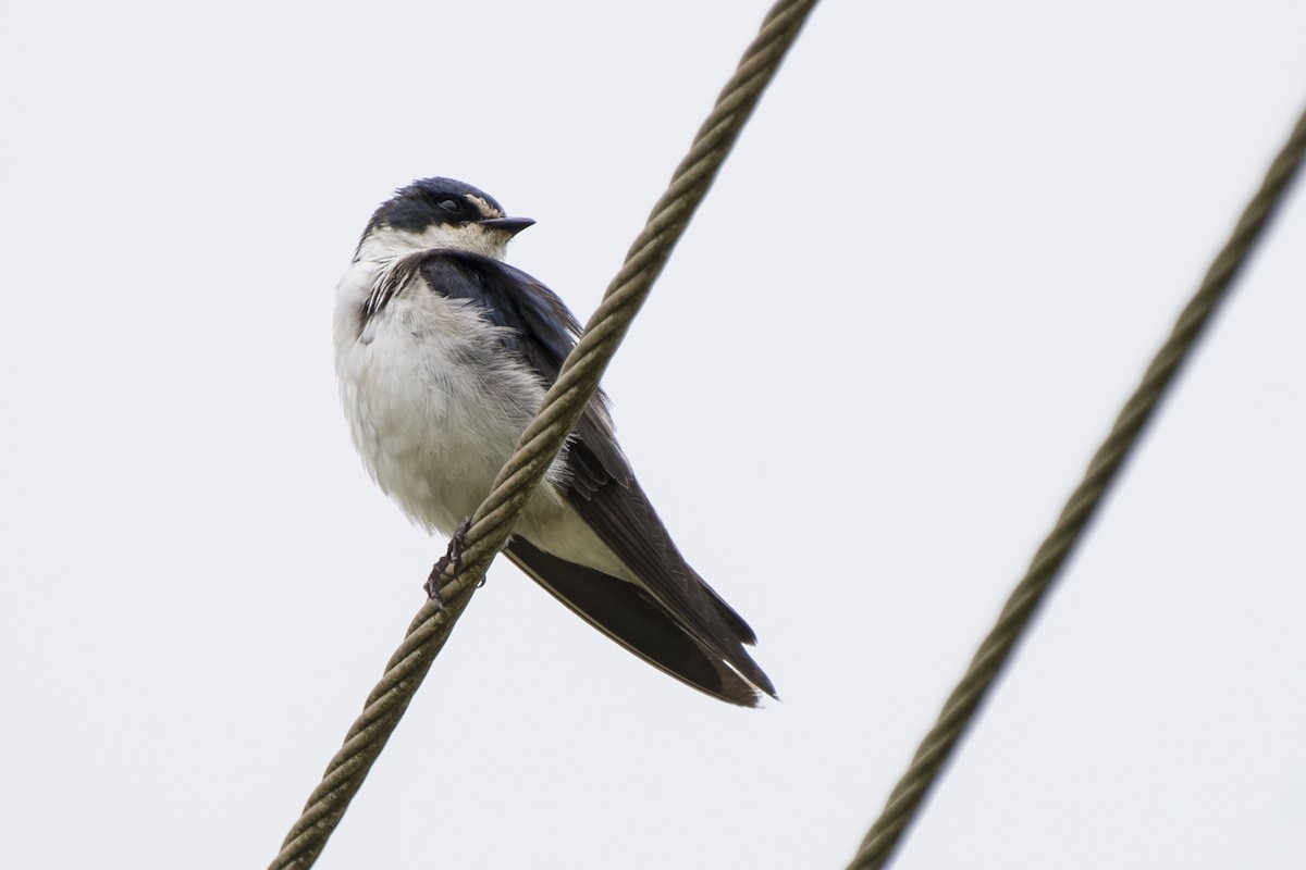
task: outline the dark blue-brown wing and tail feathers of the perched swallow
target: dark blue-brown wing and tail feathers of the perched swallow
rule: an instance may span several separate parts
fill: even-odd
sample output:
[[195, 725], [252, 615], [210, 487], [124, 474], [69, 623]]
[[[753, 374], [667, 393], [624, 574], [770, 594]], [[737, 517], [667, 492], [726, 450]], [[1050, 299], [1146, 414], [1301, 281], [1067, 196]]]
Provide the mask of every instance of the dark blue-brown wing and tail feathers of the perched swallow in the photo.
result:
[[[465, 252], [428, 252], [418, 266], [431, 288], [477, 304], [488, 322], [504, 327], [505, 350], [525, 360], [545, 383], [551, 385], [558, 378], [563, 360], [576, 344], [580, 323], [551, 290], [518, 269]], [[700, 681], [699, 665], [679, 665], [670, 655], [656, 655], [670, 652], [670, 635], [663, 630], [662, 639], [654, 643], [641, 634], [644, 629], [639, 621], [661, 608], [663, 621], [670, 620], [700, 647], [700, 652], [710, 652], [729, 663], [754, 686], [774, 697], [771, 680], [743, 648], [743, 644], [755, 643], [756, 635], [675, 548], [616, 442], [607, 398], [602, 393], [586, 404], [568, 441], [565, 462], [571, 473], [563, 494], [640, 579], [646, 596], [632, 596], [620, 588], [627, 584], [616, 578], [610, 578], [610, 588], [596, 586], [594, 578], [588, 575], [607, 575], [563, 562], [534, 544], [530, 549], [547, 558], [526, 548], [515, 554], [509, 547], [513, 561], [610, 637], [708, 694], [724, 697], [720, 689]], [[563, 571], [563, 566], [572, 571]], [[550, 582], [546, 574], [559, 579]], [[720, 663], [716, 669], [720, 670]]]

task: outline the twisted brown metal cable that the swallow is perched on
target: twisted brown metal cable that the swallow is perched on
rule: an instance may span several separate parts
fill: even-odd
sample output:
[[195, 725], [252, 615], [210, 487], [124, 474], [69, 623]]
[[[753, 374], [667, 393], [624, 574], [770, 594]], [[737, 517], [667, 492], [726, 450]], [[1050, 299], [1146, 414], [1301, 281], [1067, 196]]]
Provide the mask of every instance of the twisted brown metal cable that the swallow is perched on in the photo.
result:
[[761, 30], [695, 136], [688, 155], [673, 173], [667, 192], [653, 206], [648, 226], [636, 237], [626, 263], [564, 361], [539, 413], [473, 515], [471, 527], [464, 536], [462, 567], [456, 577], [445, 573], [440, 586], [447, 609], [427, 603], [418, 612], [385, 674], [368, 695], [363, 713], [346, 734], [345, 745], [330, 760], [321, 784], [286, 836], [281, 853], [270, 865], [273, 870], [306, 870], [317, 860], [471, 599], [475, 584], [503, 548], [522, 506], [580, 419], [653, 282], [815, 5], [816, 0], [781, 0], [767, 13]]

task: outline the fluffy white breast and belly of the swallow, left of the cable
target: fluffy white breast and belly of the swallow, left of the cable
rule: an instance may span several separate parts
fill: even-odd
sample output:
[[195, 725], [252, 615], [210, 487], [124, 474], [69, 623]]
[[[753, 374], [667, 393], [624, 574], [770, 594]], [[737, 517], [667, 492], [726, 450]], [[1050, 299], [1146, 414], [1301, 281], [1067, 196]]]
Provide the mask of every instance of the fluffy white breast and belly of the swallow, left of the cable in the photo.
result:
[[363, 301], [393, 262], [355, 262], [337, 287], [341, 400], [376, 484], [415, 523], [448, 535], [490, 492], [545, 389], [474, 305], [431, 292], [419, 274], [359, 330]]

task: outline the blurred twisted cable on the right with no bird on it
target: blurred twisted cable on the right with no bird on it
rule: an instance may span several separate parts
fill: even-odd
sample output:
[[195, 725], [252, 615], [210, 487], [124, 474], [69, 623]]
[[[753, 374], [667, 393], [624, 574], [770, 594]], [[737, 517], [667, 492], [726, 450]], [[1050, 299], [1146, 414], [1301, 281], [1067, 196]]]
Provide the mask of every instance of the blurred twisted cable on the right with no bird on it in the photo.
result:
[[1216, 256], [1198, 292], [1179, 314], [1170, 338], [1152, 360], [1143, 382], [1124, 403], [1124, 410], [1117, 417], [1106, 441], [1088, 463], [1083, 483], [1071, 493], [1053, 531], [1034, 553], [1024, 579], [1007, 600], [996, 625], [980, 644], [980, 651], [966, 674], [943, 704], [939, 720], [921, 742], [906, 773], [889, 794], [884, 811], [862, 840], [849, 870], [878, 870], [888, 863], [943, 766], [966, 728], [974, 721], [980, 706], [1011, 657], [1023, 631], [1083, 537], [1102, 497], [1138, 445], [1144, 427], [1165, 398], [1175, 374], [1190, 357], [1203, 330], [1211, 323], [1220, 303], [1228, 296], [1234, 278], [1247, 262], [1269, 218], [1282, 203], [1288, 185], [1301, 167], [1303, 153], [1306, 153], [1306, 113], [1298, 119], [1288, 142], [1266, 173], [1260, 190], [1243, 210], [1229, 241]]

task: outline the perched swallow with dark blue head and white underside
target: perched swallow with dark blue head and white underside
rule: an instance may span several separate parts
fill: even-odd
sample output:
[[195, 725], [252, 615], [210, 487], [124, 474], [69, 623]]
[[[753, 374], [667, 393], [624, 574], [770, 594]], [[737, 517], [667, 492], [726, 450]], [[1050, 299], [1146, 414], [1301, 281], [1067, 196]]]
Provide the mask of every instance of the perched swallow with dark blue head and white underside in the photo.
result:
[[[384, 202], [336, 291], [336, 372], [376, 484], [451, 535], [490, 492], [556, 380], [580, 323], [503, 262], [534, 220], [424, 179]], [[690, 567], [616, 443], [607, 398], [586, 406], [504, 553], [635, 655], [709, 695], [755, 707], [776, 690], [748, 623]]]

